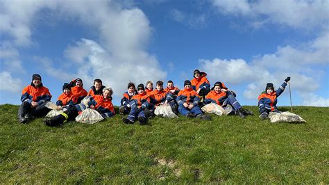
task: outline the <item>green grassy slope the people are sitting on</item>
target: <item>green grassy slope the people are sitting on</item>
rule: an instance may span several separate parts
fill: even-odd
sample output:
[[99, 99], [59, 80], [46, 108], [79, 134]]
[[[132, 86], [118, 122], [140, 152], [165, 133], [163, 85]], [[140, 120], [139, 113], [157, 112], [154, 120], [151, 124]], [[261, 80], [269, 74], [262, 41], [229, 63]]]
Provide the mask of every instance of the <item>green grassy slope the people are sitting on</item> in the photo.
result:
[[[153, 118], [124, 124], [46, 127], [17, 122], [18, 106], [0, 106], [0, 182], [328, 184], [329, 108], [298, 106], [306, 124]], [[288, 111], [289, 107], [280, 107]]]

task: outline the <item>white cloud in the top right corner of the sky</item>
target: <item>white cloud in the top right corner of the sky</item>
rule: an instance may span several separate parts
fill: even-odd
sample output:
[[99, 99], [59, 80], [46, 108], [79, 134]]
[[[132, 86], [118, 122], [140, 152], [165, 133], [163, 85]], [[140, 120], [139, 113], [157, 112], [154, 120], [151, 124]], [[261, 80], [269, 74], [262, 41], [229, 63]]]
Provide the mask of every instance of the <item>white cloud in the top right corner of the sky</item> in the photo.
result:
[[[212, 6], [220, 13], [242, 15], [254, 23], [272, 22], [298, 29], [325, 28], [329, 20], [329, 1], [326, 0], [212, 0]], [[254, 25], [260, 26], [260, 24]]]

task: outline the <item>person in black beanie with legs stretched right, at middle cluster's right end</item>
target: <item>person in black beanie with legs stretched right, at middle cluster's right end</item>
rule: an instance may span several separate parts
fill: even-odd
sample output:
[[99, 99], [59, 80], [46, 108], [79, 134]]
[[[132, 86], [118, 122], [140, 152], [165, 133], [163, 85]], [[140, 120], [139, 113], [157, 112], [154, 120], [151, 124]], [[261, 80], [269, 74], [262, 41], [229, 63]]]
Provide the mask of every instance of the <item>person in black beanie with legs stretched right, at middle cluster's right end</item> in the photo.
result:
[[252, 114], [251, 111], [248, 111], [247, 113], [247, 111], [243, 110], [242, 106], [239, 102], [237, 102], [237, 99], [235, 99], [236, 96], [237, 95], [235, 95], [232, 90], [228, 90], [223, 83], [217, 81], [214, 83], [210, 93], [205, 96], [204, 104], [218, 104], [223, 106], [227, 113], [233, 111], [233, 113], [235, 113], [235, 115], [239, 115], [240, 118], [245, 118], [248, 113]]

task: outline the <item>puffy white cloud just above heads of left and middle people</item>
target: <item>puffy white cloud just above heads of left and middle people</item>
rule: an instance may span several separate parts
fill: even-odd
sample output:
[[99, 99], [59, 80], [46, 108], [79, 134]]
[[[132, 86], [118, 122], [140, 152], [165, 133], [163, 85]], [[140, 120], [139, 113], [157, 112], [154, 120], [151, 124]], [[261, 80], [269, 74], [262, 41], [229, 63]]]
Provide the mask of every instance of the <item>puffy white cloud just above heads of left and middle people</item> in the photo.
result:
[[[83, 49], [81, 49], [83, 48]], [[165, 79], [167, 73], [159, 70], [158, 61], [154, 56], [149, 56], [145, 52], [136, 53], [134, 61], [122, 60], [121, 56], [110, 54], [93, 40], [82, 39], [76, 46], [67, 48], [65, 54], [81, 55], [85, 58], [79, 64], [76, 77], [82, 78], [88, 83], [92, 83], [95, 78], [102, 79], [105, 86], [111, 86], [115, 90], [115, 95], [121, 97], [121, 93], [126, 90], [129, 81], [135, 83], [145, 83], [146, 81], [156, 81]], [[83, 51], [83, 53], [76, 53]]]

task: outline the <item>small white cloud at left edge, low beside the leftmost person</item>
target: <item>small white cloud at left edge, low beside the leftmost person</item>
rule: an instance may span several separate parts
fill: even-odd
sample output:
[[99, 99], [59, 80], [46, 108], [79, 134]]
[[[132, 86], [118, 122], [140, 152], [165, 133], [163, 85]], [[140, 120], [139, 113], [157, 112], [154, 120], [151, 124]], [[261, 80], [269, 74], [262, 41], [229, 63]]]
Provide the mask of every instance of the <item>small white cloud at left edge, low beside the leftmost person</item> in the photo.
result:
[[[11, 76], [10, 72], [0, 72], [0, 79], [3, 84], [0, 86], [0, 90], [9, 91], [12, 93], [19, 93], [22, 90], [22, 81], [15, 79]], [[5, 84], [8, 84], [7, 86]]]

